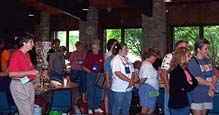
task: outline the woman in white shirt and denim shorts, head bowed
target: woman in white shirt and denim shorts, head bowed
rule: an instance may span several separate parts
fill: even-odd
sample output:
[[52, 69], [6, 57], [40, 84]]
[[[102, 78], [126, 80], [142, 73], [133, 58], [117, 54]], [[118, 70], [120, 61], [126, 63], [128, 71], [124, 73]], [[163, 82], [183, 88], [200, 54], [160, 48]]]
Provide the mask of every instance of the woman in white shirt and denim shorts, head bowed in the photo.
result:
[[159, 58], [160, 51], [158, 49], [149, 48], [143, 53], [145, 60], [142, 62], [139, 78], [139, 97], [142, 106], [142, 114], [150, 115], [155, 109], [157, 96], [159, 95], [159, 78], [158, 72], [153, 67], [153, 63]]

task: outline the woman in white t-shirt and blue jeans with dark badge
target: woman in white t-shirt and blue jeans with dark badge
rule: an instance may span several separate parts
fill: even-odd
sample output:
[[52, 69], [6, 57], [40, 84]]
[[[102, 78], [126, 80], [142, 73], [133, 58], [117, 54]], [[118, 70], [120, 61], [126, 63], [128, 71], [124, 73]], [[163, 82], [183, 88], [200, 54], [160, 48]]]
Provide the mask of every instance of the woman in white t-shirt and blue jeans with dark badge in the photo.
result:
[[117, 46], [117, 55], [111, 61], [112, 67], [112, 115], [129, 115], [134, 84], [134, 67], [126, 57], [125, 44]]

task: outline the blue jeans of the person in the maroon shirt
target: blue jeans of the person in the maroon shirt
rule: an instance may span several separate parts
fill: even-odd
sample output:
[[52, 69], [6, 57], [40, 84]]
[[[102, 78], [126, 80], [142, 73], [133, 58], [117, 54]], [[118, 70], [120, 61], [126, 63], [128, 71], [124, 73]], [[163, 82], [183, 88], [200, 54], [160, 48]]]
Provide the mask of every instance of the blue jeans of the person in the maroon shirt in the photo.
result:
[[97, 109], [101, 104], [102, 89], [96, 86], [97, 73], [87, 73], [88, 109]]

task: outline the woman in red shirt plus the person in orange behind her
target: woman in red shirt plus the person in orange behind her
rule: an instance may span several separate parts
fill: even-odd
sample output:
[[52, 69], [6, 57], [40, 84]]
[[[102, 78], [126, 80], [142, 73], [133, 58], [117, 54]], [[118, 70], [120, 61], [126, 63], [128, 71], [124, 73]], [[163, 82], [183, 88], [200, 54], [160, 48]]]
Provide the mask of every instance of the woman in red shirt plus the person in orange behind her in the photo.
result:
[[9, 44], [5, 43], [6, 47], [1, 51], [0, 72], [1, 79], [8, 79], [9, 84], [3, 80], [1, 87], [7, 87], [5, 92], [10, 106], [15, 103], [20, 115], [32, 115], [35, 97], [33, 80], [38, 74], [28, 53], [34, 46], [33, 36], [24, 34], [10, 47]]

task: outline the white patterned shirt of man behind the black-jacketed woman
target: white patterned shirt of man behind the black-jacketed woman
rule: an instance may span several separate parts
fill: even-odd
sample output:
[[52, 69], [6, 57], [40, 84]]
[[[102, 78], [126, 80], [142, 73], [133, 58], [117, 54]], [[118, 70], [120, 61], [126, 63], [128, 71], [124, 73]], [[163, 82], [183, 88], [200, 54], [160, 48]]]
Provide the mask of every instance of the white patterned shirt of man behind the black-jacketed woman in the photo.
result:
[[167, 55], [165, 55], [161, 64], [161, 69], [164, 69], [166, 71], [169, 70], [172, 58], [173, 53], [168, 53]]

